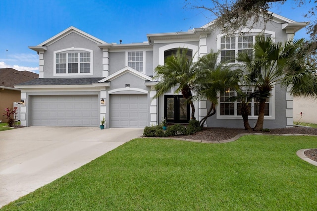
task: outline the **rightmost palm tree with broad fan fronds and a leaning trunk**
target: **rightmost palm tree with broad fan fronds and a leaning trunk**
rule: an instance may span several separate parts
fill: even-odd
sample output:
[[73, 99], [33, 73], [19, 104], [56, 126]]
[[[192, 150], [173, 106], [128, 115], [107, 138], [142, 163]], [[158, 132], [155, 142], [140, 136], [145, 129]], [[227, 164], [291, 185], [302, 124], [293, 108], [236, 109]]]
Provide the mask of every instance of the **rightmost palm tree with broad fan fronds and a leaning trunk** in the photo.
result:
[[[253, 46], [253, 56], [245, 53], [238, 54], [238, 60], [242, 61], [248, 71], [250, 85], [254, 85], [256, 92], [253, 97], [259, 102], [259, 116], [254, 130], [263, 129], [264, 106], [266, 99], [274, 84], [284, 87], [291, 86], [294, 95], [316, 95], [312, 74], [303, 70], [301, 58], [298, 58], [303, 40], [274, 43], [271, 38], [259, 36]], [[300, 68], [294, 69], [296, 63]], [[305, 69], [305, 68], [304, 68]], [[307, 85], [310, 84], [310, 86]], [[316, 81], [315, 81], [316, 85]], [[301, 89], [304, 88], [305, 89]]]

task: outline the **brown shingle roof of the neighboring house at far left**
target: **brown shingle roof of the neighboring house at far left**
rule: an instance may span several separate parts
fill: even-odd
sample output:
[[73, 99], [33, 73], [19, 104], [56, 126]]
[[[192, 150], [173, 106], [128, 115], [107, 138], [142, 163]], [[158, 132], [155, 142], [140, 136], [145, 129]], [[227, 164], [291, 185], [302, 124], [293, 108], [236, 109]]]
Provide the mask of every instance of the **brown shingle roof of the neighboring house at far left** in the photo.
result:
[[29, 71], [18, 71], [12, 68], [0, 69], [0, 87], [14, 89], [14, 85], [39, 78], [39, 74]]

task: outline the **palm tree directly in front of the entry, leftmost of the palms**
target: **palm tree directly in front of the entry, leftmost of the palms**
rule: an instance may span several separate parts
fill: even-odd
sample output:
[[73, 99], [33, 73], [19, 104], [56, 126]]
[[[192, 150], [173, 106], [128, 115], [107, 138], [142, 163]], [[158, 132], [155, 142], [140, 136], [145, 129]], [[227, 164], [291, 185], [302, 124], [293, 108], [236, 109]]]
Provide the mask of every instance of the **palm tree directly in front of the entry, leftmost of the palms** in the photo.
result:
[[191, 118], [195, 119], [195, 106], [193, 104], [192, 88], [196, 78], [196, 65], [193, 58], [188, 59], [187, 49], [178, 49], [176, 54], [165, 59], [164, 65], [155, 68], [156, 78], [159, 83], [155, 86], [159, 97], [177, 87], [174, 93], [181, 92], [192, 108]]

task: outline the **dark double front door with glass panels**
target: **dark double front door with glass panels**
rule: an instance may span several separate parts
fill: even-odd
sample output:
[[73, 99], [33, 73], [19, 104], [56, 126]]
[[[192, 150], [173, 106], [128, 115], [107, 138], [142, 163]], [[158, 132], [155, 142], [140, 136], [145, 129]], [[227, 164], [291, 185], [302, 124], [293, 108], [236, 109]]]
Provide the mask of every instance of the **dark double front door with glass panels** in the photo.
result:
[[190, 118], [190, 106], [182, 95], [164, 96], [164, 118], [166, 122], [188, 122]]

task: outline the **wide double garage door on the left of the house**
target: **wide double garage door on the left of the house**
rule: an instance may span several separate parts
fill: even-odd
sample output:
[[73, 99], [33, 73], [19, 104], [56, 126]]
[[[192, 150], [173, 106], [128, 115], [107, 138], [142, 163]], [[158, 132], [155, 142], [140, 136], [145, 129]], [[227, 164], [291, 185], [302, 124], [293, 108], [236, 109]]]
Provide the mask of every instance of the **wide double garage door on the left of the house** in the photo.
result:
[[32, 126], [99, 126], [98, 95], [32, 96]]

